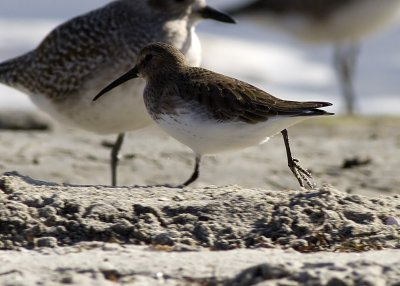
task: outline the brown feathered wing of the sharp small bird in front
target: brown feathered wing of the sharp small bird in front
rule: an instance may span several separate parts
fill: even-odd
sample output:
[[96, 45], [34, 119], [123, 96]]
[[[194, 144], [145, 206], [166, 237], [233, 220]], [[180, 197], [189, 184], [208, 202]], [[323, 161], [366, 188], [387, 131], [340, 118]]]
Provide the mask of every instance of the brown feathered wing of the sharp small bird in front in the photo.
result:
[[331, 105], [282, 100], [234, 78], [201, 68], [190, 70], [190, 80], [180, 81], [179, 95], [200, 103], [220, 121], [257, 123], [274, 116], [324, 115], [328, 113], [318, 108]]

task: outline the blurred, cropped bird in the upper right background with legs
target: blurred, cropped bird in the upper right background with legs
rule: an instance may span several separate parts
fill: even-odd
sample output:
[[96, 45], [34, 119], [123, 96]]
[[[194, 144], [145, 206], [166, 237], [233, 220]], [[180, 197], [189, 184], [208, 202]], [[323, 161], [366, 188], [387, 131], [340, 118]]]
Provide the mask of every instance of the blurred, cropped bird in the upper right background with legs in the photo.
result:
[[396, 22], [400, 0], [255, 0], [232, 15], [288, 32], [311, 43], [332, 43], [333, 62], [348, 114], [355, 112], [353, 87], [359, 43]]

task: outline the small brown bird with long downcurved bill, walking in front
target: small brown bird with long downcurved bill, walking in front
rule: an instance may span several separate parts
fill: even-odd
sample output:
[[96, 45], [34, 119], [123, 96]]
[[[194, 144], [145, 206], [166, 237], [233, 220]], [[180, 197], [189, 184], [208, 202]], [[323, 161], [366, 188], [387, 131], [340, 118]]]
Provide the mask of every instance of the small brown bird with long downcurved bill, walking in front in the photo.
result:
[[164, 43], [143, 48], [136, 63], [93, 100], [130, 79], [144, 78], [144, 102], [151, 117], [196, 154], [194, 171], [181, 186], [198, 178], [203, 155], [261, 144], [281, 132], [290, 170], [300, 186], [305, 182], [314, 187], [311, 174], [292, 157], [286, 128], [309, 117], [332, 115], [319, 109], [331, 103], [276, 98], [237, 79], [190, 67], [181, 52]]

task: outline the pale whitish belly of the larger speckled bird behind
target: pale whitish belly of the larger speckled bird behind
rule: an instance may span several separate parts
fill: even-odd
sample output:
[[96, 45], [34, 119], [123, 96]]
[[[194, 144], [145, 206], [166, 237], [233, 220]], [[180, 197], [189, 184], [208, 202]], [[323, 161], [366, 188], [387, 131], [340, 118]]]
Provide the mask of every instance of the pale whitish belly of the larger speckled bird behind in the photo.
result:
[[58, 121], [81, 129], [111, 134], [137, 130], [153, 123], [143, 102], [144, 81], [131, 80], [93, 102], [103, 85], [70, 95], [60, 103], [43, 95], [31, 95], [32, 101]]

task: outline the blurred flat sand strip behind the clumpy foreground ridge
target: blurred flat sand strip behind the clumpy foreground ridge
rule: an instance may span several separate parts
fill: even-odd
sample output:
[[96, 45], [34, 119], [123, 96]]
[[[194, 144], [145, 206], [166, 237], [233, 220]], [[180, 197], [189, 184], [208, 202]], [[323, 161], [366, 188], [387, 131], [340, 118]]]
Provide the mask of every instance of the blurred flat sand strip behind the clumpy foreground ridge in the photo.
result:
[[[400, 194], [400, 118], [328, 117], [289, 129], [293, 156], [318, 186], [366, 196]], [[109, 185], [110, 145], [98, 136], [57, 125], [43, 114], [0, 115], [0, 171], [73, 185]], [[29, 129], [29, 130], [21, 130]], [[33, 130], [32, 130], [33, 129]], [[120, 186], [179, 184], [192, 172], [190, 149], [157, 127], [128, 133], [119, 167]], [[192, 187], [240, 185], [299, 189], [287, 167], [281, 135], [239, 152], [205, 157]]]

